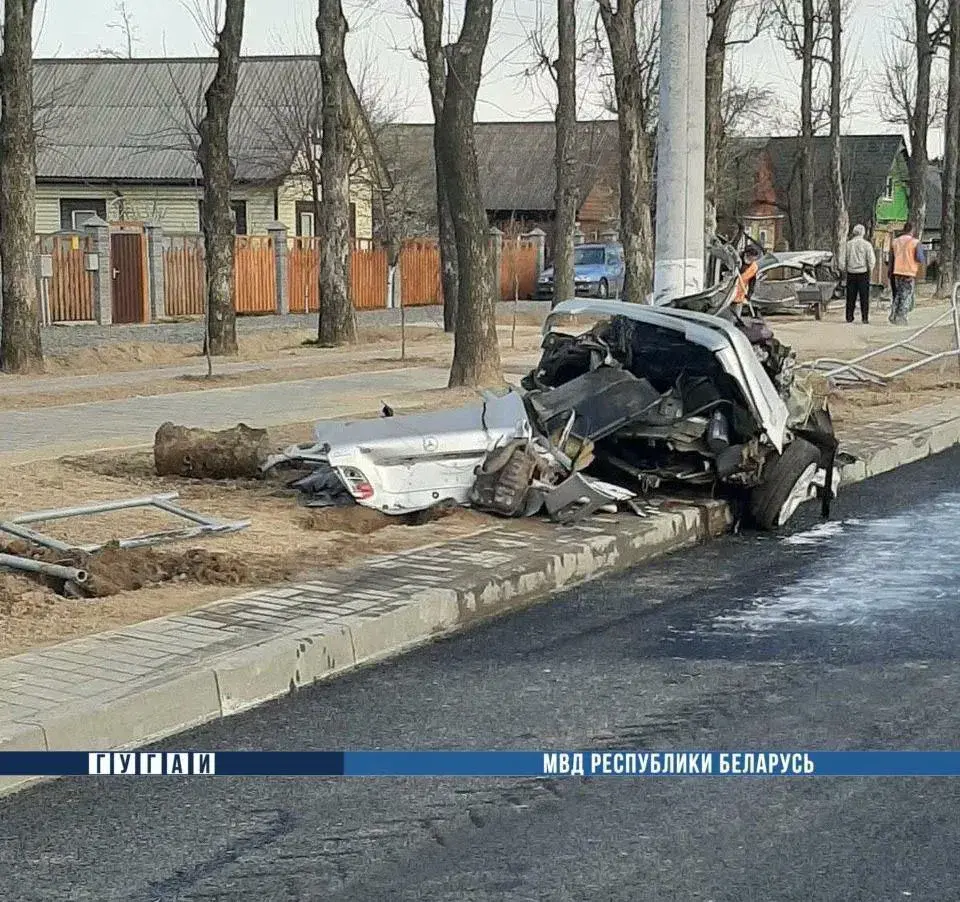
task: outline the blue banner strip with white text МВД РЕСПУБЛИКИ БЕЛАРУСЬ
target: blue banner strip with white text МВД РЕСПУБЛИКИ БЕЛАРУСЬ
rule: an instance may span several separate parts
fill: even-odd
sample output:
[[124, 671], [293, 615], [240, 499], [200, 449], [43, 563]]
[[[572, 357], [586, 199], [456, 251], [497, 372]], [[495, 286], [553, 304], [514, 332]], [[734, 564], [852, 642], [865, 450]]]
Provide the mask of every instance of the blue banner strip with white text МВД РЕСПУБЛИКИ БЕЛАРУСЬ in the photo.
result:
[[2, 776], [957, 777], [960, 752], [0, 752]]

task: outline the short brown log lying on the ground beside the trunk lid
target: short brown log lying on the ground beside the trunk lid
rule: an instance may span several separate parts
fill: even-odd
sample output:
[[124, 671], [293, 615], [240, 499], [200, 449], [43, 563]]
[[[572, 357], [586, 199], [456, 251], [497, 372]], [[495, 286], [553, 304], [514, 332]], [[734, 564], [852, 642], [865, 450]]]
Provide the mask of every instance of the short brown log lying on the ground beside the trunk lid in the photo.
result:
[[244, 423], [220, 432], [164, 423], [153, 440], [158, 476], [255, 479], [268, 454], [267, 430]]

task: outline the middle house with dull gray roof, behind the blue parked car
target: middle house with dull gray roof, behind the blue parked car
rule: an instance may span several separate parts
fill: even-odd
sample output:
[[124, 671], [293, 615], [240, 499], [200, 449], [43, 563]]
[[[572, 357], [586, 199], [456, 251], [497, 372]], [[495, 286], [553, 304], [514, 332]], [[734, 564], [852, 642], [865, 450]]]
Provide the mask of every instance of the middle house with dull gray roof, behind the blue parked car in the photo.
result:
[[[548, 254], [554, 217], [554, 145], [548, 122], [478, 122], [474, 126], [480, 190], [491, 225], [547, 233]], [[436, 175], [433, 125], [398, 124], [382, 130], [380, 152], [396, 184], [411, 181], [418, 213], [436, 228]], [[578, 221], [585, 240], [616, 231], [620, 218], [619, 139], [615, 120], [577, 124]]]

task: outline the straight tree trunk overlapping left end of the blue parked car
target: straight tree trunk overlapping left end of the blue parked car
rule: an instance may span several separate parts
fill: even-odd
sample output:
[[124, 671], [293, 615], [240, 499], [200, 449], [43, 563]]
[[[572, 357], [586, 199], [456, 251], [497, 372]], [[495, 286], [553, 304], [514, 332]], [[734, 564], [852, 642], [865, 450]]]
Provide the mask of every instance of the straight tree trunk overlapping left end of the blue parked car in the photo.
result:
[[553, 303], [574, 296], [573, 232], [577, 226], [577, 19], [574, 0], [557, 0], [557, 186], [553, 221]]

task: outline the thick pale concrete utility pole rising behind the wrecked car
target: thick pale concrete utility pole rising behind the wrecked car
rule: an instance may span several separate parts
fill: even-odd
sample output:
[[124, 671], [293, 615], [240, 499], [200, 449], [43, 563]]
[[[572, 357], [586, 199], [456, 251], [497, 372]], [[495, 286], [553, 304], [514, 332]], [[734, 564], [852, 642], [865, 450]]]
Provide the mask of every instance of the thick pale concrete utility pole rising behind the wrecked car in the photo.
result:
[[653, 302], [703, 287], [706, 0], [663, 0]]

